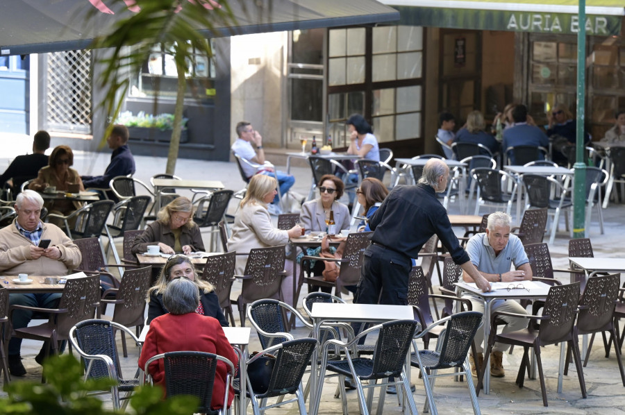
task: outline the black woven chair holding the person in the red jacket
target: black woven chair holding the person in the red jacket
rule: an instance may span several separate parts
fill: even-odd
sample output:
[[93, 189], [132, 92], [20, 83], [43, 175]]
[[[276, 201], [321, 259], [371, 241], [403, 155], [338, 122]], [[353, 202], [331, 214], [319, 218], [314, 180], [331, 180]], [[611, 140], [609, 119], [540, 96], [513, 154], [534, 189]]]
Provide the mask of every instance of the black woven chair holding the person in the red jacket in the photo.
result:
[[[165, 390], [167, 397], [178, 395], [192, 395], [199, 398], [199, 406], [195, 412], [207, 415], [228, 413], [228, 393], [232, 387], [235, 375], [234, 364], [215, 353], [179, 351], [161, 353], [151, 357], [145, 364], [145, 373], [152, 362], [163, 359], [165, 369]], [[215, 384], [215, 371], [217, 362], [226, 364], [226, 387], [222, 409], [211, 409], [210, 402], [213, 399], [213, 384]]]

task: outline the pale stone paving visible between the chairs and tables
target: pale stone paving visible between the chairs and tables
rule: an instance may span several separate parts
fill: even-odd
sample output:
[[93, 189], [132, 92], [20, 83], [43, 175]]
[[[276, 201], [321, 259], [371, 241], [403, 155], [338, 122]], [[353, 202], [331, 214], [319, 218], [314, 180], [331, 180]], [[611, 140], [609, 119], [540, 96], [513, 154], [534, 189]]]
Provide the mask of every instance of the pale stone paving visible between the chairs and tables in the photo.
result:
[[[97, 173], [103, 171], [108, 164], [109, 153], [92, 154], [76, 153], [74, 168], [84, 174]], [[136, 178], [149, 183], [149, 178], [156, 173], [165, 171], [165, 159], [151, 157], [137, 157], [138, 173]], [[0, 158], [0, 170], [8, 165], [8, 159]], [[301, 195], [308, 193], [310, 186], [310, 170], [304, 167], [293, 167], [292, 173], [297, 181], [294, 191]], [[243, 182], [235, 164], [227, 162], [203, 162], [201, 160], [178, 160], [176, 175], [182, 178], [222, 180], [226, 188], [238, 190], [243, 187]], [[234, 207], [232, 207], [233, 209]], [[458, 213], [458, 207], [452, 205], [450, 213]], [[590, 232], [595, 256], [619, 257], [625, 235], [625, 206], [610, 205], [603, 210], [605, 234], [600, 235], [597, 224], [596, 212], [593, 213], [593, 225]], [[401, 218], [398, 218], [401, 220]], [[561, 221], [563, 223], [564, 221]], [[563, 224], [561, 226], [563, 228]], [[208, 232], [204, 233], [205, 242], [208, 243]], [[553, 265], [556, 268], [567, 266], [567, 241], [568, 235], [560, 229], [554, 244], [549, 246]], [[558, 275], [558, 279], [568, 282], [569, 274]], [[434, 278], [437, 280], [437, 278]], [[237, 287], [235, 287], [235, 290]], [[233, 292], [233, 298], [236, 296]], [[296, 337], [306, 336], [308, 333], [304, 329], [297, 329], [294, 332]], [[26, 378], [37, 379], [40, 377], [40, 366], [35, 363], [33, 357], [38, 353], [40, 344], [33, 341], [25, 341], [22, 347], [24, 366], [28, 371]], [[258, 339], [253, 334], [253, 342], [250, 350], [260, 350]], [[590, 355], [590, 362], [584, 369], [587, 386], [587, 399], [581, 398], [581, 392], [577, 382], [574, 368], [569, 369], [569, 375], [565, 376], [562, 393], [557, 393], [557, 364], [560, 348], [548, 346], [542, 353], [544, 362], [544, 373], [547, 382], [549, 407], [542, 406], [540, 394], [540, 384], [537, 380], [526, 380], [523, 389], [515, 386], [514, 380], [519, 359], [522, 356], [521, 350], [515, 350], [512, 355], [505, 355], [504, 366], [506, 377], [495, 379], [491, 383], [491, 393], [481, 394], [479, 403], [483, 414], [597, 414], [606, 412], [610, 414], [624, 413], [625, 388], [619, 377], [617, 362], [612, 351], [610, 358], [606, 359], [601, 347], [601, 341], [594, 346]], [[130, 348], [129, 357], [122, 358], [122, 366], [126, 375], [134, 373], [138, 358], [138, 350]], [[16, 381], [17, 378], [15, 379]], [[412, 371], [412, 382], [417, 385], [415, 400], [419, 411], [422, 411], [424, 404], [424, 390], [422, 381], [417, 377], [417, 371]], [[341, 412], [340, 400], [333, 398], [336, 384], [335, 380], [330, 380], [324, 387], [320, 414], [335, 414]], [[348, 393], [349, 412], [358, 413], [358, 403], [355, 391]], [[377, 400], [374, 400], [376, 405]], [[468, 399], [466, 384], [453, 382], [452, 378], [442, 378], [437, 381], [435, 388], [435, 402], [440, 414], [470, 414], [472, 407]], [[384, 414], [400, 412], [394, 396], [387, 396], [383, 407]], [[285, 409], [272, 409], [269, 413], [276, 414], [296, 414], [297, 406], [290, 405]]]

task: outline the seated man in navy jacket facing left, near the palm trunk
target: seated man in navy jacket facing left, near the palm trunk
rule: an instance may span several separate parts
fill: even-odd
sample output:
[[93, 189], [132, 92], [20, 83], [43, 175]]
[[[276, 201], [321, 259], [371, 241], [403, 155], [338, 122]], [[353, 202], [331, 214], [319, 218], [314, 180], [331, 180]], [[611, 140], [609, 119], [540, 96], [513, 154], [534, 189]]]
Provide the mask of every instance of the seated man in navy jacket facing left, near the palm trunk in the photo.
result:
[[[98, 187], [108, 189], [110, 179], [117, 176], [128, 176], [135, 173], [135, 159], [128, 148], [128, 128], [115, 124], [110, 135], [106, 137], [108, 148], [113, 150], [110, 155], [110, 163], [102, 176], [82, 176], [85, 187]], [[113, 192], [107, 192], [111, 200], [116, 200]]]

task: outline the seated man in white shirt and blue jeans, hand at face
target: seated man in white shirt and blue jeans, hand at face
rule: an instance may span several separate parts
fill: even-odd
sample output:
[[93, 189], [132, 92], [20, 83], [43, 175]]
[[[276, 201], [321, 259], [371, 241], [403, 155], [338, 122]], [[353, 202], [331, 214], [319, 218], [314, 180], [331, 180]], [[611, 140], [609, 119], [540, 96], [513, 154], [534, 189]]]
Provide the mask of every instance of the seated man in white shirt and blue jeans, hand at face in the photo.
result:
[[[263, 137], [260, 137], [258, 131], [255, 131], [253, 126], [248, 121], [240, 121], [237, 124], [237, 135], [238, 138], [232, 144], [232, 151], [236, 155], [248, 160], [250, 162], [254, 162], [256, 164], [265, 164], [265, 150], [263, 150]], [[251, 143], [256, 146], [256, 150], [253, 149]], [[278, 186], [280, 186], [280, 194], [285, 196], [289, 189], [294, 185], [295, 178], [290, 174], [284, 173], [283, 171], [276, 171], [274, 173], [274, 167], [271, 165], [263, 165], [258, 170], [249, 166], [248, 164], [242, 164], [243, 171], [247, 175], [247, 178], [251, 178], [251, 176], [255, 174], [264, 174], [265, 176], [275, 177], [274, 174], [278, 178]], [[278, 215], [282, 213], [282, 210], [279, 206], [280, 198], [278, 195], [274, 197], [274, 201], [272, 204], [267, 206], [267, 210], [269, 210], [270, 214]]]

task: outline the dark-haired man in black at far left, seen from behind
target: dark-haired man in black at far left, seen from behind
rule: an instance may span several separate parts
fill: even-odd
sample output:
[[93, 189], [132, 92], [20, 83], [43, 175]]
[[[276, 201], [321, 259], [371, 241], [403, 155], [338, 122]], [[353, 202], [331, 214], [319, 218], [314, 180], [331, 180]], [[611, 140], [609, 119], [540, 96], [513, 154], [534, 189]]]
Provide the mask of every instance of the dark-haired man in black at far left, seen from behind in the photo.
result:
[[39, 169], [48, 165], [48, 156], [45, 151], [50, 147], [50, 135], [40, 130], [33, 139], [33, 154], [18, 155], [11, 162], [8, 169], [0, 176], [0, 186], [5, 183], [11, 187], [13, 196], [17, 196], [26, 180], [36, 178]]

